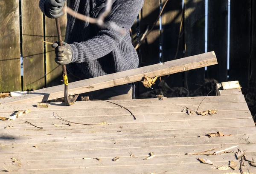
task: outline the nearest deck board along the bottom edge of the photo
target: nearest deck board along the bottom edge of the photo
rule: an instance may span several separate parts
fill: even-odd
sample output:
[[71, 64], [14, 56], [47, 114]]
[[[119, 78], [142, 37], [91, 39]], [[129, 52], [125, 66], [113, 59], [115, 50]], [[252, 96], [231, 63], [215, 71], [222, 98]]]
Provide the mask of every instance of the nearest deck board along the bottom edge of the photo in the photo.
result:
[[[225, 161], [223, 162], [216, 162], [215, 165], [227, 165], [228, 162]], [[216, 168], [212, 168], [212, 165], [204, 165], [199, 162], [197, 163], [192, 163], [192, 164], [155, 164], [155, 165], [132, 165], [132, 166], [116, 166], [116, 165], [111, 165], [107, 167], [97, 167], [97, 168], [88, 168], [88, 167], [73, 167], [73, 168], [52, 168], [52, 169], [39, 169], [36, 171], [37, 174], [84, 174], [84, 173], [100, 173], [100, 174], [150, 174], [150, 173], [156, 173], [156, 174], [161, 174], [165, 172], [165, 174], [240, 174], [240, 171], [233, 171], [232, 169], [226, 170], [226, 171], [220, 171], [217, 170]], [[246, 169], [250, 170], [251, 174], [256, 173], [256, 169], [253, 167], [250, 167], [248, 164], [246, 164], [246, 167], [243, 167], [244, 169], [244, 174], [248, 174], [247, 172], [245, 173]], [[200, 171], [198, 170], [200, 169]], [[232, 170], [232, 171], [231, 171]], [[18, 171], [19, 174], [34, 174], [35, 171]], [[11, 171], [9, 174], [17, 174], [16, 171]]]

